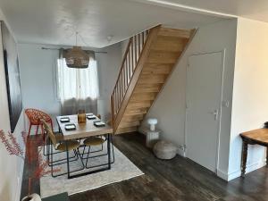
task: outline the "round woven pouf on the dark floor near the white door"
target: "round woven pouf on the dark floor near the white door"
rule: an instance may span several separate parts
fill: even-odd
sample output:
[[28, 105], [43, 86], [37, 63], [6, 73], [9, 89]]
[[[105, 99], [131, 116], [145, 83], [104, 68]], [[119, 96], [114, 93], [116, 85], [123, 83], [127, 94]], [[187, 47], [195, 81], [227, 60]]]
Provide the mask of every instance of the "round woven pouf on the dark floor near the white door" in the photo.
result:
[[172, 159], [177, 154], [177, 147], [171, 142], [161, 140], [155, 144], [154, 153], [157, 158]]

